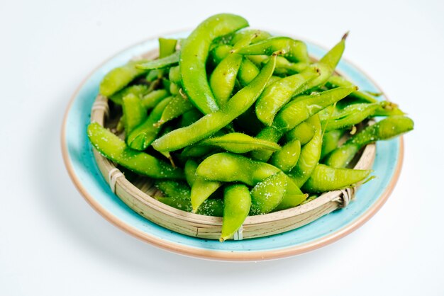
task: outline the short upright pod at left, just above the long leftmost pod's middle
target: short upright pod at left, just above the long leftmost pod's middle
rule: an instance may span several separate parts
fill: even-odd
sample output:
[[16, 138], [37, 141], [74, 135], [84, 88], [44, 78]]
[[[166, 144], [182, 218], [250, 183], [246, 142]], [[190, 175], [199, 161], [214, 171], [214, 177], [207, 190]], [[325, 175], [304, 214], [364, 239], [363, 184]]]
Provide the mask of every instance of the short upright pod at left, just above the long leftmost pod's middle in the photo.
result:
[[130, 93], [123, 97], [123, 122], [125, 125], [125, 132], [128, 135], [147, 118], [145, 108], [142, 106], [140, 98]]

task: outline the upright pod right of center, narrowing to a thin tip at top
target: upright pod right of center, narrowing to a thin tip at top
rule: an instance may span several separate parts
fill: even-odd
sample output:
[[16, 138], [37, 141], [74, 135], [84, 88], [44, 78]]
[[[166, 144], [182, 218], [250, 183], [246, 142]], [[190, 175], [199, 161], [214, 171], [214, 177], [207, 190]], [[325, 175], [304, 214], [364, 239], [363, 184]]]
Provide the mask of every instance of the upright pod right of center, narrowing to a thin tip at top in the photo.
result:
[[313, 139], [310, 140], [304, 147], [301, 148], [301, 154], [299, 155], [299, 160], [292, 169], [289, 171], [289, 176], [293, 179], [296, 186], [301, 188], [304, 183], [309, 179], [311, 173], [313, 172], [316, 164], [318, 164], [321, 158], [322, 149], [322, 128], [321, 120], [319, 116], [315, 115], [311, 117], [311, 122], [316, 128], [316, 132]]

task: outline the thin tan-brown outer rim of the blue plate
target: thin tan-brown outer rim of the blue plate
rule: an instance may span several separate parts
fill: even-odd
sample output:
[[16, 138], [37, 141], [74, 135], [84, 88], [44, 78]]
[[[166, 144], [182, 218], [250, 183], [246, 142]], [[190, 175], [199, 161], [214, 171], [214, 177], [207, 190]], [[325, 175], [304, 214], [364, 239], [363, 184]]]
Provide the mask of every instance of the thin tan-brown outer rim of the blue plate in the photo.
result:
[[[174, 31], [173, 33], [178, 33], [179, 31]], [[165, 33], [163, 35], [169, 35], [172, 33]], [[126, 222], [123, 222], [121, 219], [119, 219], [116, 215], [113, 215], [111, 212], [106, 210], [105, 207], [101, 206], [92, 196], [88, 193], [88, 190], [84, 188], [82, 185], [82, 182], [77, 177], [71, 159], [70, 154], [68, 152], [67, 148], [67, 137], [66, 137], [66, 127], [67, 127], [67, 118], [68, 114], [70, 113], [70, 110], [72, 108], [72, 105], [75, 101], [75, 98], [77, 98], [77, 95], [79, 91], [82, 89], [84, 84], [87, 83], [87, 81], [91, 78], [91, 76], [104, 64], [109, 62], [114, 57], [120, 55], [122, 52], [125, 52], [126, 50], [131, 49], [132, 47], [135, 47], [137, 45], [141, 45], [144, 42], [147, 42], [148, 40], [152, 40], [156, 37], [150, 37], [146, 38], [145, 40], [142, 40], [140, 42], [136, 42], [133, 45], [130, 45], [123, 50], [118, 51], [116, 54], [112, 55], [111, 57], [104, 60], [104, 62], [101, 62], [97, 67], [94, 67], [94, 69], [87, 74], [87, 76], [82, 80], [82, 82], [77, 86], [77, 89], [72, 94], [69, 103], [67, 104], [67, 108], [65, 109], [65, 114], [63, 115], [62, 120], [62, 128], [60, 132], [60, 144], [62, 149], [62, 158], [65, 164], [65, 167], [68, 171], [68, 174], [71, 178], [72, 183], [74, 183], [75, 188], [79, 191], [79, 193], [82, 195], [84, 200], [87, 201], [87, 203], [94, 209], [96, 212], [98, 212], [102, 217], [104, 217], [106, 220], [111, 222], [114, 226], [118, 227], [119, 229], [123, 230], [124, 232], [131, 234], [133, 237], [140, 239], [142, 241], [147, 242], [148, 244], [151, 244], [152, 246], [157, 246], [160, 249], [164, 249], [166, 251], [172, 251], [173, 253], [182, 254], [185, 256], [192, 256], [196, 258], [204, 258], [204, 259], [211, 259], [211, 260], [218, 260], [218, 261], [263, 261], [263, 260], [271, 260], [271, 259], [277, 259], [277, 258], [285, 258], [289, 256], [296, 256], [299, 254], [304, 254], [309, 251], [313, 251], [316, 249], [319, 249], [323, 246], [326, 246], [328, 244], [332, 244], [335, 241], [338, 241], [339, 239], [345, 237], [346, 235], [350, 234], [351, 232], [354, 232], [356, 229], [362, 226], [362, 224], [365, 224], [370, 218], [372, 218], [379, 209], [386, 203], [387, 199], [389, 198], [390, 194], [393, 192], [394, 187], [396, 186], [397, 181], [399, 180], [399, 175], [401, 173], [402, 164], [404, 162], [404, 137], [399, 137], [399, 156], [396, 162], [396, 166], [394, 169], [394, 174], [389, 181], [389, 184], [385, 188], [384, 192], [377, 198], [375, 203], [371, 207], [369, 207], [360, 217], [357, 217], [353, 222], [350, 224], [345, 225], [344, 227], [341, 227], [340, 229], [335, 230], [334, 232], [331, 232], [330, 234], [325, 235], [324, 237], [321, 237], [319, 239], [315, 239], [313, 241], [306, 242], [304, 244], [299, 244], [296, 246], [289, 246], [282, 249], [271, 249], [268, 251], [248, 251], [248, 252], [236, 252], [236, 251], [220, 251], [220, 250], [210, 250], [210, 249], [201, 249], [196, 248], [193, 246], [185, 246], [183, 244], [175, 243], [172, 241], [167, 241], [165, 239], [161, 239], [160, 237], [157, 237], [152, 234], [148, 234], [146, 232], [143, 232], [135, 227], [133, 227], [131, 224], [128, 224]], [[312, 42], [311, 40], [306, 39], [308, 42], [312, 43], [313, 45], [316, 45], [318, 47], [321, 47], [325, 49], [325, 47], [318, 45], [316, 42]], [[370, 78], [369, 75], [367, 75], [366, 72], [362, 71], [360, 67], [357, 67], [353, 62], [350, 62], [348, 59], [343, 59], [343, 61], [347, 62], [348, 64], [352, 65], [360, 71], [362, 74], [366, 76], [367, 79], [369, 79], [374, 86], [377, 86], [378, 89], [381, 89], [378, 84], [374, 82], [372, 78]], [[382, 90], [382, 89], [381, 89]]]

